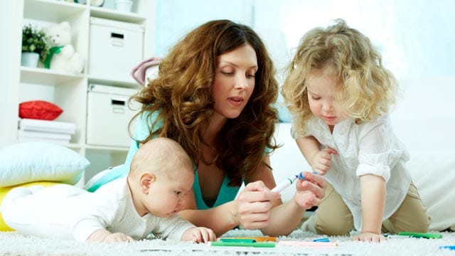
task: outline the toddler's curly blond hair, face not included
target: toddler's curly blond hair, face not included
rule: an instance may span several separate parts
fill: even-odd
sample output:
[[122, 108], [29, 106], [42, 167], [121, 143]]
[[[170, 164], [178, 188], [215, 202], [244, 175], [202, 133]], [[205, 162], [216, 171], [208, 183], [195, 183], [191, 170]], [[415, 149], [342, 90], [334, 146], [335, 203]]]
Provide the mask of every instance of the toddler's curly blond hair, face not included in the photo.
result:
[[375, 119], [395, 103], [397, 90], [381, 61], [368, 37], [341, 19], [327, 28], [311, 29], [301, 38], [282, 89], [289, 110], [297, 122], [311, 118], [309, 86], [315, 89], [324, 80], [331, 83], [328, 96], [339, 112], [357, 122]]

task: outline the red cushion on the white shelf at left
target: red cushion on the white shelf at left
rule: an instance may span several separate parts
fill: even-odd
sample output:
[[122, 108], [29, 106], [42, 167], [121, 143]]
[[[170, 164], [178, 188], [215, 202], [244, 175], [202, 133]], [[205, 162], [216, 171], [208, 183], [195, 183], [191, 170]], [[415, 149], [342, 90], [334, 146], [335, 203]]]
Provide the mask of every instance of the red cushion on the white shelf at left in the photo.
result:
[[62, 114], [57, 105], [43, 100], [33, 100], [19, 104], [19, 117], [29, 119], [53, 120]]

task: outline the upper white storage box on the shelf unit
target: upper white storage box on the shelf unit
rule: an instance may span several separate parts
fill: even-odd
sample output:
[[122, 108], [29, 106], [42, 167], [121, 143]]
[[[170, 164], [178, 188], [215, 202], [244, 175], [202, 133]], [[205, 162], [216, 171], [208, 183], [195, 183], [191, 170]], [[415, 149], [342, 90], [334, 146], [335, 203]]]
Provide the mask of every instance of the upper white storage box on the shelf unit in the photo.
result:
[[97, 78], [134, 82], [129, 72], [143, 58], [144, 26], [90, 18], [88, 73]]

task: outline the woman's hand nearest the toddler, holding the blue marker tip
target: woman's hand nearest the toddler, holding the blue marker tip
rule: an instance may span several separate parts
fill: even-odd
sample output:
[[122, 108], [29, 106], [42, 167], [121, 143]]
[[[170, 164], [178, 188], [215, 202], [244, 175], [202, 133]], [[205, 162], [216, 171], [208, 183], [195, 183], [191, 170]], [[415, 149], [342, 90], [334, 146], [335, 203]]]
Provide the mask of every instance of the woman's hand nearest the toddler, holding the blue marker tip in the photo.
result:
[[298, 178], [296, 181], [294, 201], [305, 210], [313, 206], [319, 206], [326, 191], [327, 183], [325, 178], [308, 171], [302, 172], [301, 175], [304, 176], [304, 179]]

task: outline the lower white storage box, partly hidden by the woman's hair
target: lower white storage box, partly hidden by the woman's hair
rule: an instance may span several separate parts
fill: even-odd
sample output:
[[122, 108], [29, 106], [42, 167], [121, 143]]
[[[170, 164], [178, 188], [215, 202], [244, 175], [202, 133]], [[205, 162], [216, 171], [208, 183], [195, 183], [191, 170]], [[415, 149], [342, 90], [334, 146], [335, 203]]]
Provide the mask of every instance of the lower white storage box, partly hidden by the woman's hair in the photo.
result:
[[[107, 85], [90, 85], [87, 93], [87, 144], [129, 146], [128, 123], [139, 110], [128, 100], [137, 90]], [[134, 127], [132, 127], [134, 132]]]

